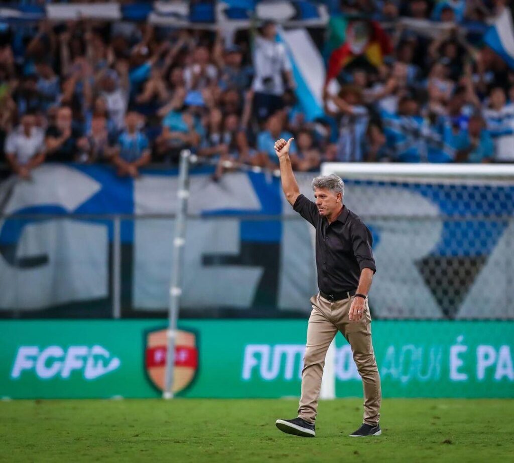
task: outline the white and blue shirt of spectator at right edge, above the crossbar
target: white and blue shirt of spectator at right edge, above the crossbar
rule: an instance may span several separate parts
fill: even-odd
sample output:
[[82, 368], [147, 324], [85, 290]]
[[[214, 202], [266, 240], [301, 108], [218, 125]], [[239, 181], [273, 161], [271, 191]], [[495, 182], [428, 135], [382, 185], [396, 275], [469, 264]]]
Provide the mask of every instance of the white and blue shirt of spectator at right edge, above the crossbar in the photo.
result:
[[499, 111], [487, 108], [484, 119], [494, 141], [494, 160], [514, 162], [514, 105], [507, 104]]

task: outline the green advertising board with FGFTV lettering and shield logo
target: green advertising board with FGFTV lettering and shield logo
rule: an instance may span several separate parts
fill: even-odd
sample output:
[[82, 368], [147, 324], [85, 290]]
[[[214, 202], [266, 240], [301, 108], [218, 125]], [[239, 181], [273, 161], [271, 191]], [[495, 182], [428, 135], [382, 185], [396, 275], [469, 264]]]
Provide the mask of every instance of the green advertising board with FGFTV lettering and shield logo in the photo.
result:
[[[298, 396], [306, 320], [183, 320], [183, 397]], [[2, 321], [0, 397], [158, 397], [166, 322]], [[373, 322], [384, 397], [514, 397], [514, 322]], [[350, 346], [336, 338], [337, 397], [360, 396]]]

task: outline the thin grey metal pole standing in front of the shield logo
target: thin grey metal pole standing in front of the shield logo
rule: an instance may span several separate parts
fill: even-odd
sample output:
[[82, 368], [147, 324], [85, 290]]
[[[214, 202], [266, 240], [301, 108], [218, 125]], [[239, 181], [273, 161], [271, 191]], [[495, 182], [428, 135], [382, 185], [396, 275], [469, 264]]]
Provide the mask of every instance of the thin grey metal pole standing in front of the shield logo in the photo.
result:
[[168, 310], [167, 356], [166, 356], [166, 382], [164, 384], [164, 399], [173, 398], [173, 376], [175, 368], [175, 343], [177, 336], [177, 320], [180, 295], [180, 270], [182, 268], [183, 250], [186, 243], [186, 214], [189, 198], [189, 158], [191, 152], [182, 150], [180, 152], [180, 163], [178, 168], [178, 191], [177, 191], [177, 212], [175, 215], [175, 236], [173, 239], [173, 255], [171, 262], [170, 276], [170, 298]]

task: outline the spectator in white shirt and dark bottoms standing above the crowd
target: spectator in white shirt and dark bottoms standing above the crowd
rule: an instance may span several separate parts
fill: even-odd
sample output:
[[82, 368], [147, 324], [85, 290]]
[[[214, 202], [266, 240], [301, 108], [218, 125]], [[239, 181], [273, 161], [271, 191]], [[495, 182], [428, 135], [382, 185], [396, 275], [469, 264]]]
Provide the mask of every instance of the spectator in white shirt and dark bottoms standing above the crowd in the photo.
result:
[[255, 76], [253, 109], [259, 121], [263, 121], [282, 109], [286, 76], [289, 88], [295, 88], [291, 63], [287, 58], [284, 45], [276, 41], [277, 27], [274, 22], [266, 21], [261, 34], [255, 36], [253, 66]]

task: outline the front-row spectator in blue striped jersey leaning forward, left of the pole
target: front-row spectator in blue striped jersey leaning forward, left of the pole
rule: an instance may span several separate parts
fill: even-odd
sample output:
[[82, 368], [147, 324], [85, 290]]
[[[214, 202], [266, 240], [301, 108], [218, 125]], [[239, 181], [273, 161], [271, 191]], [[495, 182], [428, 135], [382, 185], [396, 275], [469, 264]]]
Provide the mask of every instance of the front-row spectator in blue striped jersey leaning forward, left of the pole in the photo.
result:
[[125, 116], [126, 128], [113, 151], [113, 163], [121, 177], [138, 177], [139, 169], [151, 161], [148, 139], [140, 129], [141, 122], [141, 116], [135, 112]]

